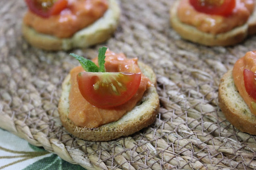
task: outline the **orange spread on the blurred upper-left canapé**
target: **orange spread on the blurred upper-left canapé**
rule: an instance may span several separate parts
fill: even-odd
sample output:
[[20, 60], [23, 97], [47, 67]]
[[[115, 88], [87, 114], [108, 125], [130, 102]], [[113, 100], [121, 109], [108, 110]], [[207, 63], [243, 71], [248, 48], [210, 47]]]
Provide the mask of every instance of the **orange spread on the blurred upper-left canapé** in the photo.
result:
[[28, 11], [23, 22], [40, 33], [67, 38], [101, 18], [107, 8], [107, 0], [68, 0], [59, 15], [43, 18]]

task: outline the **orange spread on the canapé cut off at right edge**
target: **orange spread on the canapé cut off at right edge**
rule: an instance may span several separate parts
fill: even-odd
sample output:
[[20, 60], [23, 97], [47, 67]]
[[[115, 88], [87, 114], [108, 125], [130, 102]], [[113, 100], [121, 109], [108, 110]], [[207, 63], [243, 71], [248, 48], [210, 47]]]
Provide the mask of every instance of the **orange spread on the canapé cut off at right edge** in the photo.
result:
[[233, 78], [235, 86], [239, 91], [239, 94], [250, 108], [251, 112], [256, 115], [256, 110], [252, 108], [252, 102], [256, 103], [256, 100], [248, 95], [243, 81], [243, 70], [248, 69], [256, 73], [256, 51], [247, 52], [245, 56], [237, 60], [233, 68]]

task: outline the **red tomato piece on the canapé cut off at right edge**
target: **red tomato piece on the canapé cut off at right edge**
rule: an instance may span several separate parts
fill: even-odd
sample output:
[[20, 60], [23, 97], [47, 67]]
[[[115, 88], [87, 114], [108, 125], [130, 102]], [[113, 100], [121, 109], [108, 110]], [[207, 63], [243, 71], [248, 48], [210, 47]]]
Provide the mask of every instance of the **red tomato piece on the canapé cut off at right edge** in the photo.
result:
[[248, 95], [256, 99], [256, 74], [251, 70], [243, 70], [243, 81]]

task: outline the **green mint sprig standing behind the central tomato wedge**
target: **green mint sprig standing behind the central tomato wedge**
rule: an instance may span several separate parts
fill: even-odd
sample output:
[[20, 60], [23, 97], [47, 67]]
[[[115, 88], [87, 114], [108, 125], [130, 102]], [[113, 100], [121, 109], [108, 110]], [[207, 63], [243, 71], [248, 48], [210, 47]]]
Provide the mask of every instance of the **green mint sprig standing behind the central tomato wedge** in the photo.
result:
[[82, 56], [79, 56], [79, 55], [73, 54], [73, 53], [71, 53], [69, 55], [76, 58], [80, 62], [81, 66], [84, 68], [84, 70], [86, 72], [106, 72], [105, 66], [104, 66], [105, 58], [106, 58], [106, 56], [105, 56], [106, 51], [107, 51], [107, 47], [102, 47], [99, 49], [99, 55], [98, 55], [99, 67], [96, 64], [94, 64], [94, 62], [92, 62], [91, 60], [88, 60]]

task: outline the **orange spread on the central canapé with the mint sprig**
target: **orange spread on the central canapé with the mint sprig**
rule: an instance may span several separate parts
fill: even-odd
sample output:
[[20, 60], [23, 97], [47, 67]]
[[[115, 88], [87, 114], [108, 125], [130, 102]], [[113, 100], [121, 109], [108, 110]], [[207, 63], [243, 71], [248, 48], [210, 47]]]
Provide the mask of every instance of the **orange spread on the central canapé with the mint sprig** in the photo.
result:
[[[124, 54], [115, 54], [109, 50], [107, 50], [105, 56], [105, 68], [107, 72], [141, 73], [137, 64], [137, 58], [127, 59]], [[95, 58], [93, 62], [95, 64], [98, 63], [98, 59]], [[102, 124], [120, 119], [126, 112], [136, 106], [136, 103], [141, 100], [147, 87], [152, 85], [149, 78], [142, 74], [138, 91], [130, 100], [112, 108], [97, 108], [87, 102], [79, 91], [76, 76], [83, 71], [82, 66], [75, 67], [70, 71], [71, 89], [69, 92], [68, 115], [70, 120], [82, 127], [99, 127]]]

